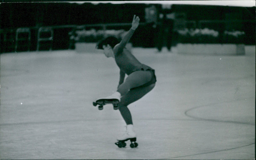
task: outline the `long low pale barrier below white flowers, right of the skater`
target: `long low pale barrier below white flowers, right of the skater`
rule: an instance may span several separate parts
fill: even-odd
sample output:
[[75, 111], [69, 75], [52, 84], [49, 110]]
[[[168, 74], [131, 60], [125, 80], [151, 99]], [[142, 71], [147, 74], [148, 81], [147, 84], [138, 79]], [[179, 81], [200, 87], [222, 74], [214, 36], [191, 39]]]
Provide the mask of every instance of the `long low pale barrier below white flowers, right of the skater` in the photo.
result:
[[179, 54], [245, 55], [244, 44], [177, 44]]

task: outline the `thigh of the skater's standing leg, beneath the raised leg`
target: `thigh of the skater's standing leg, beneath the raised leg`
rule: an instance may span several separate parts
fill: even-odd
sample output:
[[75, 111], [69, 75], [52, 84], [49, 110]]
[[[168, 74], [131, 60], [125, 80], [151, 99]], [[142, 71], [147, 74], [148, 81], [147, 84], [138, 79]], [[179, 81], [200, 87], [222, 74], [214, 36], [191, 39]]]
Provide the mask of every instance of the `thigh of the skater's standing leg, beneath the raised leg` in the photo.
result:
[[146, 95], [149, 91], [151, 91], [155, 87], [155, 83], [151, 84], [146, 87], [137, 87], [130, 89], [129, 92], [121, 97], [121, 101], [119, 103], [120, 106], [127, 106], [137, 100], [139, 100], [141, 97]]

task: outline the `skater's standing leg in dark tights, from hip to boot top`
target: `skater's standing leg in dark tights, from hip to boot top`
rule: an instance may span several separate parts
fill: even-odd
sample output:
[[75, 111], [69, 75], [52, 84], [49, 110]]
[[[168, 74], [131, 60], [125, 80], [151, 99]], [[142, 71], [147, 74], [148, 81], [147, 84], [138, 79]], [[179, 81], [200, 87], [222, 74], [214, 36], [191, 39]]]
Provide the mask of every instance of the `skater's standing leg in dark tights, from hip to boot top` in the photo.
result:
[[155, 87], [155, 84], [151, 84], [146, 87], [133, 88], [121, 98], [121, 101], [119, 103], [119, 111], [127, 125], [132, 124], [132, 115], [130, 110], [127, 108], [127, 106], [139, 100], [141, 97], [146, 95], [149, 91], [151, 91], [154, 87]]

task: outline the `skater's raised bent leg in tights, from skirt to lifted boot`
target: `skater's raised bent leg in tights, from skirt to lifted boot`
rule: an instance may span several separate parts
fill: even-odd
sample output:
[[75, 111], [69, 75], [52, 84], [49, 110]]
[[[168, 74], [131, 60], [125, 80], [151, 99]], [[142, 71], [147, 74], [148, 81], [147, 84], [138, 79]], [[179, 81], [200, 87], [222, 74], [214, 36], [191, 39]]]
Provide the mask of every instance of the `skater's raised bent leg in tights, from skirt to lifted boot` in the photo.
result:
[[125, 95], [131, 88], [142, 86], [146, 84], [152, 79], [152, 74], [150, 71], [136, 71], [132, 72], [122, 83], [117, 92], [121, 94], [121, 96]]

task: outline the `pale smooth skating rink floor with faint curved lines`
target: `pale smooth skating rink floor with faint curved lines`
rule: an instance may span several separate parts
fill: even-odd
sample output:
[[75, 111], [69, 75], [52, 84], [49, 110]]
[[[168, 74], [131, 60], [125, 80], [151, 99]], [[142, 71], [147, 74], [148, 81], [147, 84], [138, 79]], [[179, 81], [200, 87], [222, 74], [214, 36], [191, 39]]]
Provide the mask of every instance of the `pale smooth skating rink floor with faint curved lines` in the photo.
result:
[[138, 148], [118, 148], [118, 110], [92, 102], [116, 91], [101, 52], [1, 54], [1, 159], [255, 159], [255, 46], [244, 56], [134, 48], [156, 87], [130, 104]]

